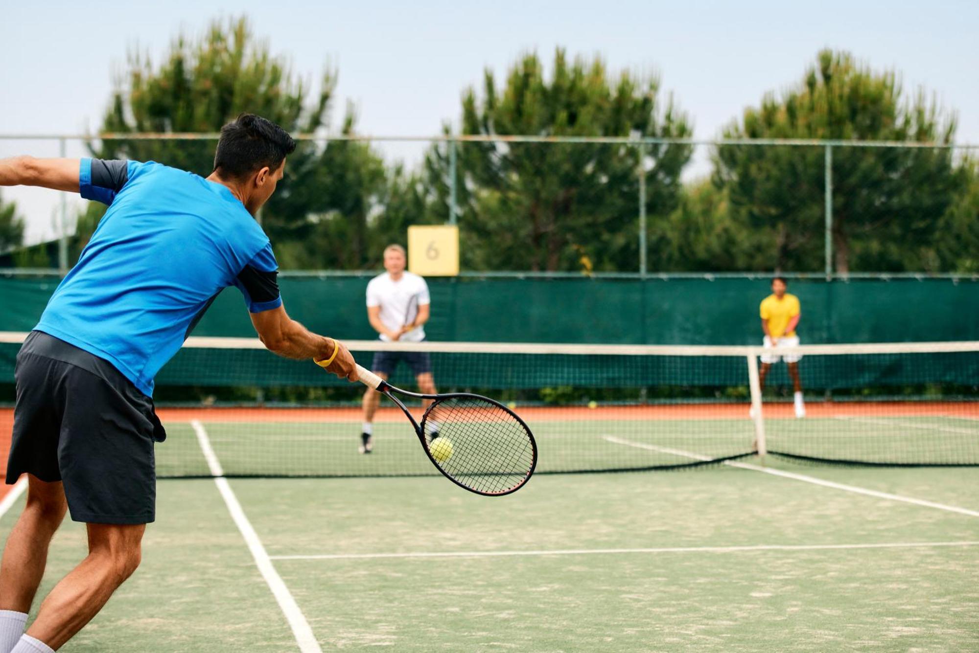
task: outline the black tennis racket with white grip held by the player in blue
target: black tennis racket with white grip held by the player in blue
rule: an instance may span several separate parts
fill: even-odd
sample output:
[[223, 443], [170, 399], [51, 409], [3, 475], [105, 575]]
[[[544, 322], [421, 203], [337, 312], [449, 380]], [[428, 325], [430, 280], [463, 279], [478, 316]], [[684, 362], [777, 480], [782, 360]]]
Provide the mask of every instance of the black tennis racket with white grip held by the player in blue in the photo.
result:
[[[357, 377], [395, 402], [414, 427], [425, 454], [459, 487], [485, 497], [500, 497], [522, 488], [534, 473], [534, 435], [523, 419], [499, 402], [468, 392], [408, 392], [359, 365]], [[433, 403], [419, 423], [396, 394], [431, 399]]]

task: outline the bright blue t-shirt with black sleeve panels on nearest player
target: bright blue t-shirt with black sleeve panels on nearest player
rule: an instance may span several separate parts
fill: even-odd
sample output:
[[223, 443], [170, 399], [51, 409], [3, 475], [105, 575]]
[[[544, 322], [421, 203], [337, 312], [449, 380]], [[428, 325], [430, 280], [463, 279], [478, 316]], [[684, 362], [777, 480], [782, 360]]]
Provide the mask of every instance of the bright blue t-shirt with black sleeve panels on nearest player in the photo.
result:
[[35, 328], [144, 394], [225, 287], [252, 313], [282, 304], [268, 237], [226, 187], [152, 161], [83, 158], [79, 190], [109, 210]]

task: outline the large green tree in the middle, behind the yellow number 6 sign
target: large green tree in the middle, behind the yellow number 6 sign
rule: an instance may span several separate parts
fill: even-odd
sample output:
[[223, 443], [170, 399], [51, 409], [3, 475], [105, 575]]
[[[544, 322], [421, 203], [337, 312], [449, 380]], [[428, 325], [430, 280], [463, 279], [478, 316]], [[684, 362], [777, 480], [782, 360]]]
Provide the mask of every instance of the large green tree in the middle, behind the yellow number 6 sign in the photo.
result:
[[[524, 56], [497, 87], [487, 70], [482, 96], [466, 91], [462, 132], [486, 136], [684, 137], [689, 120], [659, 82], [600, 59], [554, 56], [545, 77], [536, 55]], [[447, 214], [448, 146], [426, 167], [434, 211]], [[463, 266], [511, 270], [636, 270], [639, 152], [632, 145], [465, 143], [458, 146]], [[646, 152], [651, 220], [676, 207], [688, 146]]]

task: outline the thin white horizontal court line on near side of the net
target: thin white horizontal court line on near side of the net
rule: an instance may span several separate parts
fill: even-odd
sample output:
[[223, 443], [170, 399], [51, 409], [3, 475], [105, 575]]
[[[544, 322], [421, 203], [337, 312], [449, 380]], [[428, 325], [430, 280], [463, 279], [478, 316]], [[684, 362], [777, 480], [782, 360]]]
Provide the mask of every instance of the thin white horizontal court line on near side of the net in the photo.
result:
[[364, 560], [383, 558], [483, 558], [513, 555], [611, 555], [619, 553], [741, 553], [749, 551], [818, 551], [858, 548], [926, 548], [979, 546], [979, 542], [895, 542], [881, 544], [755, 544], [748, 546], [660, 546], [655, 548], [557, 548], [527, 551], [419, 551], [414, 553], [336, 553], [273, 555], [273, 560]]

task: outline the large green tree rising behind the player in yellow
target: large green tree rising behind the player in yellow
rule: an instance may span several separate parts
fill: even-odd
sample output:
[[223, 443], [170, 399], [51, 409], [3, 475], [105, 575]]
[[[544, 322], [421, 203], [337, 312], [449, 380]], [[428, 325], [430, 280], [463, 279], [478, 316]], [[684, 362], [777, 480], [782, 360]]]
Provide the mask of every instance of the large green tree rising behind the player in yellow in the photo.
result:
[[[812, 138], [947, 144], [954, 116], [923, 92], [907, 98], [892, 71], [843, 52], [819, 53], [803, 81], [745, 109], [726, 138]], [[835, 268], [899, 271], [929, 265], [928, 246], [961, 183], [945, 149], [835, 148]], [[753, 229], [768, 232], [767, 268], [818, 270], [823, 248], [821, 148], [719, 148], [715, 181]], [[934, 263], [934, 261], [931, 261]]]

